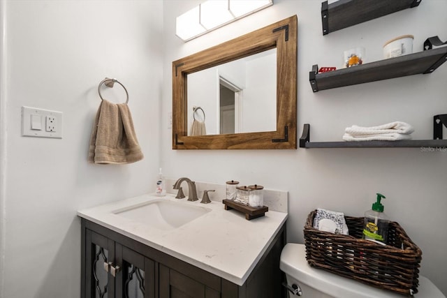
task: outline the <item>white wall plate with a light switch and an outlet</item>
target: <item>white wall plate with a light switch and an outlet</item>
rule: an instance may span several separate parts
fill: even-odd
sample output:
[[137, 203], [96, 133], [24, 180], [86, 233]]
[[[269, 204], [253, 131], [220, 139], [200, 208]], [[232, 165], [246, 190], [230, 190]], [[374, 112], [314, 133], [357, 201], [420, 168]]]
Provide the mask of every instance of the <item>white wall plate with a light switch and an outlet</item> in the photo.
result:
[[[41, 121], [40, 126], [38, 125], [39, 118]], [[22, 107], [22, 135], [61, 139], [62, 112], [43, 110], [37, 107]]]

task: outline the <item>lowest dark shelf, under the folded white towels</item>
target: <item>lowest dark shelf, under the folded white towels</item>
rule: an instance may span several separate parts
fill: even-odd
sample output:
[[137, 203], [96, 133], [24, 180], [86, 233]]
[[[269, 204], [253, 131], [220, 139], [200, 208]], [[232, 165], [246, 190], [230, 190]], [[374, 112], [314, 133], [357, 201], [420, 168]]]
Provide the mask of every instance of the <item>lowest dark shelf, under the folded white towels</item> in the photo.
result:
[[447, 140], [402, 140], [362, 142], [310, 142], [310, 124], [305, 124], [300, 137], [300, 148], [381, 148], [381, 147], [430, 147], [447, 151]]

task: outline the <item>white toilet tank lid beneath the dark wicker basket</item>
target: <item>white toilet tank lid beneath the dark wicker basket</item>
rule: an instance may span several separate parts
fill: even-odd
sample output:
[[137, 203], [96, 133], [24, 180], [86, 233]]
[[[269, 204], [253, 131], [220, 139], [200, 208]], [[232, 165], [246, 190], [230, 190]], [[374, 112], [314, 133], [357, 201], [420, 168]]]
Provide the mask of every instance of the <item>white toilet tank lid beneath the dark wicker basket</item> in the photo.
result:
[[[344, 278], [322, 269], [312, 268], [306, 260], [306, 248], [304, 244], [288, 243], [281, 252], [279, 267], [285, 274], [292, 276], [297, 281], [309, 285], [326, 295], [344, 298], [402, 298], [402, 295], [388, 290], [374, 288], [350, 278]], [[418, 278], [418, 298], [446, 298], [436, 286], [424, 276]]]

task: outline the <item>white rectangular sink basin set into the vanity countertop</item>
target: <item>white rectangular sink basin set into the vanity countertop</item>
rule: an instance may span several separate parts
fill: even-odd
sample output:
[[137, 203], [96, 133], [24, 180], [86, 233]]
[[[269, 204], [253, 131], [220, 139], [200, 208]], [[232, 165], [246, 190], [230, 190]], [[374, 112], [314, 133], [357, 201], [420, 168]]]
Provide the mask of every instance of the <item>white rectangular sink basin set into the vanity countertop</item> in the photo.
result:
[[174, 230], [211, 211], [188, 202], [153, 200], [113, 211], [113, 214], [138, 221], [159, 230]]

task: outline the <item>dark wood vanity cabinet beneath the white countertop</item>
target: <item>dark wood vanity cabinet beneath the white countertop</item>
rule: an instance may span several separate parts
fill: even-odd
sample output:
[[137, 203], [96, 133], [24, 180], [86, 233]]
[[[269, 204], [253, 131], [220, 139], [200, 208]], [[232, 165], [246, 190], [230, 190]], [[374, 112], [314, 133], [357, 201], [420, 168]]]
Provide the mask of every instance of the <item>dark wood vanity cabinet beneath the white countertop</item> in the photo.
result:
[[[82, 298], [286, 297], [279, 269], [285, 223], [244, 285], [237, 285], [124, 234], [81, 218]], [[206, 239], [204, 239], [206, 241]]]

